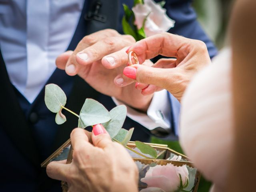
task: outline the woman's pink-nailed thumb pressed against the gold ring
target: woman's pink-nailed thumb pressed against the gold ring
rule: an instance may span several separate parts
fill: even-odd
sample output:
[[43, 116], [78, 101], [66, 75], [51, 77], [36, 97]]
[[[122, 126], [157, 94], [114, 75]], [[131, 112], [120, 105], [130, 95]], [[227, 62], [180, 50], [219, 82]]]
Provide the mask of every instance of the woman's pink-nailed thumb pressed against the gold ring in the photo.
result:
[[167, 89], [174, 78], [175, 68], [154, 68], [145, 65], [132, 65], [124, 68], [124, 75], [144, 84], [156, 85]]

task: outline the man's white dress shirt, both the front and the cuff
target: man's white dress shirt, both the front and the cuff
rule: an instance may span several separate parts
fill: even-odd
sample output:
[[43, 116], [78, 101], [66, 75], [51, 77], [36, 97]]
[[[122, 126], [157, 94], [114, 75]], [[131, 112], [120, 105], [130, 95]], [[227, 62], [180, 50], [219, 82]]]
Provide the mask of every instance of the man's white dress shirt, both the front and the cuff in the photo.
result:
[[[2, 56], [10, 81], [30, 103], [56, 69], [56, 57], [68, 48], [83, 5], [84, 0], [0, 0]], [[170, 128], [167, 92], [154, 94], [148, 116], [131, 108], [128, 116], [150, 130]]]

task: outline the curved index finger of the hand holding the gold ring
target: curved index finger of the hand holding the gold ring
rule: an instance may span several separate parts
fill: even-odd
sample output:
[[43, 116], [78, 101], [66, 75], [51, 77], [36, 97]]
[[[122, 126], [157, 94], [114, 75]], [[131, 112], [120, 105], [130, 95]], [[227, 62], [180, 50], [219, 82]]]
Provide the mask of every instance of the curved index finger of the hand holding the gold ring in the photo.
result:
[[134, 51], [139, 62], [143, 63], [158, 55], [185, 58], [191, 49], [190, 44], [188, 38], [165, 32], [136, 42], [128, 51]]

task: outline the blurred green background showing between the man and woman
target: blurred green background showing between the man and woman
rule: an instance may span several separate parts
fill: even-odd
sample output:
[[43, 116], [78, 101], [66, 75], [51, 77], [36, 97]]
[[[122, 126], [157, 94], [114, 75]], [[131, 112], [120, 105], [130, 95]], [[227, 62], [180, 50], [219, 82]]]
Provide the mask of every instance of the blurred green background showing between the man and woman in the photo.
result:
[[[226, 34], [233, 3], [234, 0], [194, 0], [192, 4], [198, 14], [198, 21], [218, 49], [228, 44]], [[152, 138], [152, 143], [167, 144], [173, 150], [183, 153], [178, 142]], [[198, 192], [208, 192], [210, 186], [211, 183], [201, 177]]]

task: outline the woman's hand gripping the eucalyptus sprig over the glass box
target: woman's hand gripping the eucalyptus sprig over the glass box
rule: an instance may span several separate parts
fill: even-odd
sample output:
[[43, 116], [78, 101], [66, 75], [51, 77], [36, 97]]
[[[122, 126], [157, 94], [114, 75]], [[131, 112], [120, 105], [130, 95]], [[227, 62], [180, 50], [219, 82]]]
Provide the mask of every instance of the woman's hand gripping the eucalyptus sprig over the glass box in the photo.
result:
[[112, 142], [101, 125], [92, 131], [92, 143], [85, 130], [71, 133], [74, 148], [71, 164], [51, 162], [46, 168], [49, 177], [68, 182], [69, 192], [136, 192], [138, 169], [125, 148]]

